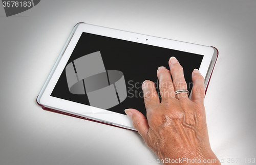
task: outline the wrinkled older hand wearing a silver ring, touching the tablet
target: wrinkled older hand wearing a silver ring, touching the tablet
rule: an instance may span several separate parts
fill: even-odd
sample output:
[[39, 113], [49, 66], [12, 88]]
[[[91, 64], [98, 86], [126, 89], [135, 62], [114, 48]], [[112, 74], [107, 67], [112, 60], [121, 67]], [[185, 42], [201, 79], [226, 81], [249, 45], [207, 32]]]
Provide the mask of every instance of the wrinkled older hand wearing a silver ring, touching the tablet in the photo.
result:
[[[157, 76], [161, 102], [154, 82], [142, 85], [147, 119], [136, 109], [125, 109], [134, 128], [160, 159], [200, 159], [195, 164], [220, 164], [209, 143], [204, 108], [204, 77], [199, 70], [192, 73], [191, 100], [186, 93], [175, 96], [176, 90], [186, 89], [183, 68], [176, 58], [170, 58], [170, 70], [159, 67]], [[171, 77], [172, 75], [172, 77]], [[210, 163], [203, 160], [216, 159]], [[193, 164], [187, 161], [164, 164]]]

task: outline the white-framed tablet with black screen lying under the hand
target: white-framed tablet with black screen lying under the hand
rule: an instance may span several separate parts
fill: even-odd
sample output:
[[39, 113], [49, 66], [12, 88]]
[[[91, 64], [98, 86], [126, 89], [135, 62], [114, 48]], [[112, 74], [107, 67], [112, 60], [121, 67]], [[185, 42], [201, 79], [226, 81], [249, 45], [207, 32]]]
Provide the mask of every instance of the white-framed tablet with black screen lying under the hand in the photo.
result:
[[154, 81], [159, 92], [157, 68], [168, 68], [172, 56], [184, 69], [190, 93], [195, 68], [207, 89], [218, 57], [215, 47], [78, 23], [37, 102], [49, 111], [135, 130], [124, 109], [146, 116], [142, 82]]

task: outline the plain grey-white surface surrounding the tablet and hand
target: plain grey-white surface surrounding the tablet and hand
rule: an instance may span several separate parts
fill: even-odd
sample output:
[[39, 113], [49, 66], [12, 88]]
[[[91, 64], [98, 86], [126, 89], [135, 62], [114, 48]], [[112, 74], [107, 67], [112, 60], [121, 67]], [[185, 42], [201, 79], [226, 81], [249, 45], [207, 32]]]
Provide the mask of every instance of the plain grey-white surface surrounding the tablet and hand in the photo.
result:
[[256, 157], [255, 9], [256, 1], [45, 0], [6, 17], [0, 6], [0, 164], [156, 164], [138, 133], [36, 104], [80, 21], [217, 47], [205, 98], [212, 150], [223, 164]]

